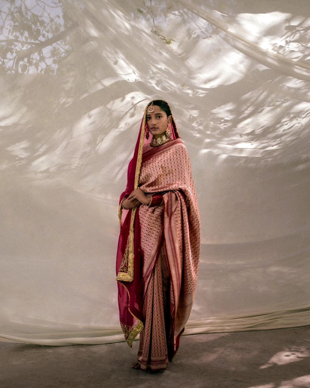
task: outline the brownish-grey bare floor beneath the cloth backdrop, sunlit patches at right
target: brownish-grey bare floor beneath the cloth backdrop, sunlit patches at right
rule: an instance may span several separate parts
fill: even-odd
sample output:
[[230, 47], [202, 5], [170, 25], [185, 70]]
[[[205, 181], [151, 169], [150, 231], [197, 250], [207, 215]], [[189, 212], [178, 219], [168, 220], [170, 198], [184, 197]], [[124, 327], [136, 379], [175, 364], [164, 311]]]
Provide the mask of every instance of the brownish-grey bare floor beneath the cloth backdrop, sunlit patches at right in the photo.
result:
[[183, 336], [165, 372], [131, 369], [138, 341], [0, 343], [0, 387], [310, 387], [310, 326]]

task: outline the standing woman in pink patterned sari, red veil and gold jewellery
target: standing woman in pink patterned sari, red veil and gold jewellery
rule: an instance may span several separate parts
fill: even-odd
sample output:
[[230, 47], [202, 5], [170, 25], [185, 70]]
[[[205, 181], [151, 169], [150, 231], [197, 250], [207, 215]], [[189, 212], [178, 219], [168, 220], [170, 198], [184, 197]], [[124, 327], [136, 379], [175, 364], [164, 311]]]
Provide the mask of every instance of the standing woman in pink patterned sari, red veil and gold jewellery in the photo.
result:
[[188, 152], [164, 100], [145, 108], [119, 203], [121, 327], [130, 347], [140, 333], [133, 368], [165, 370], [193, 305], [200, 216]]

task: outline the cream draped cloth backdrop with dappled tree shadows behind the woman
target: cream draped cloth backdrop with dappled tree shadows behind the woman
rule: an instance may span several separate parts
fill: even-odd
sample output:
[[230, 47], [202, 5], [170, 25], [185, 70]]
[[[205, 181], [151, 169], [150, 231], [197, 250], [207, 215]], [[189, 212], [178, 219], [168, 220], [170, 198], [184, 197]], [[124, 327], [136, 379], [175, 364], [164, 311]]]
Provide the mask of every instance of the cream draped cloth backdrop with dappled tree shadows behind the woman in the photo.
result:
[[309, 324], [308, 0], [4, 0], [0, 13], [0, 338], [124, 340], [118, 198], [157, 98], [202, 219], [184, 334]]

